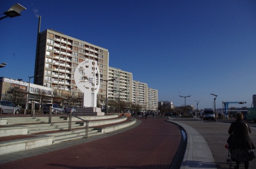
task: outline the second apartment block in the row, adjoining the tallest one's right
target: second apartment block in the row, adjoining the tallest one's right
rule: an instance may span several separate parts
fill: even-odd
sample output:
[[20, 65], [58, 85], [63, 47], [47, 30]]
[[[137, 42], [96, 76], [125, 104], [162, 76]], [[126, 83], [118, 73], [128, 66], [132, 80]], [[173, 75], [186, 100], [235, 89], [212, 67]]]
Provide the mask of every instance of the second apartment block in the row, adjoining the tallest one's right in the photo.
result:
[[[109, 81], [108, 98], [113, 100], [119, 99], [126, 102], [133, 101], [133, 74], [123, 71], [121, 69], [109, 67], [109, 79], [116, 79]], [[119, 91], [119, 92], [118, 92]]]

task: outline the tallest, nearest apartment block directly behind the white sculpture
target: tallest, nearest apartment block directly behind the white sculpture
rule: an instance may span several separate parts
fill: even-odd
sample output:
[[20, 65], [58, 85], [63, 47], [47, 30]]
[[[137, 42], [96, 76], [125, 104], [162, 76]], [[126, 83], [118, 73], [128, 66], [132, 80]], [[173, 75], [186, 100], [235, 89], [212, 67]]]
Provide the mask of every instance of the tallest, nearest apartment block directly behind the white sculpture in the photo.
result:
[[[72, 94], [81, 94], [75, 86], [74, 72], [77, 65], [84, 60], [97, 61], [100, 78], [107, 79], [108, 49], [54, 30], [45, 30], [39, 33], [38, 37], [34, 83], [69, 91]], [[101, 85], [99, 94], [104, 95], [104, 90], [106, 90], [106, 83]]]

